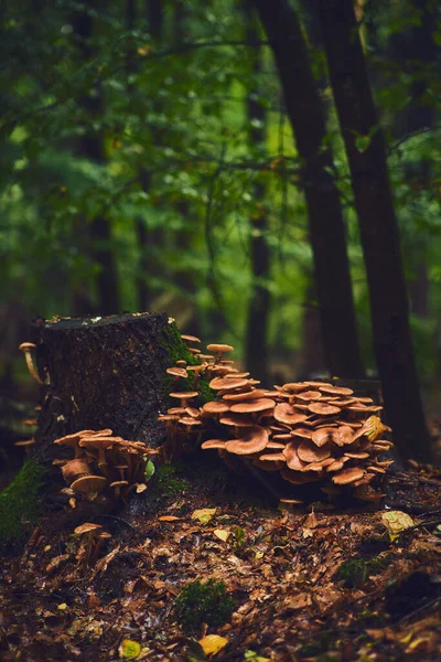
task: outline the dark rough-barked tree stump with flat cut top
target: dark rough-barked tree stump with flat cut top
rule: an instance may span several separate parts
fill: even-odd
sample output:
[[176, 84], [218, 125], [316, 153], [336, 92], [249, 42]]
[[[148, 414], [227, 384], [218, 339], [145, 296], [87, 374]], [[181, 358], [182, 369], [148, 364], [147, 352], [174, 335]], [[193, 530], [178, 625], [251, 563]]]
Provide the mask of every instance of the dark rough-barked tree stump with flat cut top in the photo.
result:
[[82, 429], [111, 428], [125, 439], [161, 444], [157, 418], [166, 407], [165, 370], [187, 353], [165, 313], [37, 320], [32, 341], [44, 382], [40, 462], [60, 457], [54, 439]]

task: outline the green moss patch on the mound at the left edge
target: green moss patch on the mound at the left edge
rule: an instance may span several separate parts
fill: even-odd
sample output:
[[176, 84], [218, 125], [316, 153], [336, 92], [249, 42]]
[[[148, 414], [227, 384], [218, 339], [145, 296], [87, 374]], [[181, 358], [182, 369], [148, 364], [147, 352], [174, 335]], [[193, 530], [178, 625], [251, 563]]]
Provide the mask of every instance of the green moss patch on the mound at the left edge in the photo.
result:
[[0, 549], [21, 541], [41, 512], [39, 492], [44, 469], [28, 460], [10, 485], [0, 494]]

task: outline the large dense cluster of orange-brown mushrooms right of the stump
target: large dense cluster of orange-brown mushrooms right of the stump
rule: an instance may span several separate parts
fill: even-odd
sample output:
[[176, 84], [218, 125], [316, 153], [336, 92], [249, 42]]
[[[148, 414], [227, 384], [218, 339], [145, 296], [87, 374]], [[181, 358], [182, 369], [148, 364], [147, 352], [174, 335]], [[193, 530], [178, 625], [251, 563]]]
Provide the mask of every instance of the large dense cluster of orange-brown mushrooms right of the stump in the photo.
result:
[[[190, 343], [196, 340], [183, 338]], [[192, 441], [194, 446], [205, 439], [202, 448], [216, 449], [232, 467], [245, 460], [278, 472], [294, 485], [316, 482], [326, 494], [338, 494], [344, 485], [351, 485], [361, 500], [380, 496], [375, 488], [392, 463], [383, 459], [392, 444], [381, 438], [391, 431], [379, 418], [381, 406], [327, 382], [261, 388], [249, 373], [239, 372], [234, 362], [224, 359], [233, 348], [207, 349], [214, 355], [197, 352], [201, 365], [187, 366], [181, 361], [168, 371], [178, 382], [198, 369], [193, 370], [194, 389], [176, 388], [170, 395], [180, 399], [179, 406], [160, 416], [166, 423], [169, 455], [176, 447], [192, 447]], [[209, 381], [214, 396], [196, 406], [200, 378]]]

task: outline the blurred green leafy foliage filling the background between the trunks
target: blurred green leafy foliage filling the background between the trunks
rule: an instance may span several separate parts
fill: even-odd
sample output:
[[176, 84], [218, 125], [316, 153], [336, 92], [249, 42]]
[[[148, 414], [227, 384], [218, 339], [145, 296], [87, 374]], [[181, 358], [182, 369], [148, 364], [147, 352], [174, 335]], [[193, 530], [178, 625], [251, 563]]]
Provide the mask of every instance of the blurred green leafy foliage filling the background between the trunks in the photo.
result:
[[[268, 344], [275, 363], [294, 365], [305, 305], [316, 302], [306, 301], [313, 265], [300, 164], [270, 49], [243, 44], [251, 19], [232, 0], [166, 6], [161, 34], [135, 4], [139, 14], [130, 25], [126, 3], [116, 0], [94, 9], [72, 0], [37, 7], [24, 0], [1, 10], [0, 85], [8, 90], [0, 117], [1, 298], [46, 318], [77, 313], [74, 302], [84, 293], [86, 308], [99, 308], [99, 254], [109, 250], [119, 309], [140, 308], [143, 284], [150, 310], [168, 310], [181, 328], [197, 318], [203, 338], [230, 342], [240, 359], [256, 281], [249, 242], [265, 204], [271, 271], [257, 281], [272, 298]], [[390, 50], [397, 39], [420, 43], [415, 38], [423, 17], [415, 0], [365, 4], [362, 31], [411, 291], [427, 265], [428, 310], [413, 316], [412, 331], [419, 369], [431, 376], [440, 367], [433, 348], [441, 337], [438, 65], [418, 50], [404, 65]], [[295, 6], [330, 98], [324, 53], [310, 30], [316, 17], [308, 3]], [[86, 43], [76, 32], [78, 14], [93, 21]], [[433, 44], [441, 43], [439, 21], [431, 31]], [[249, 97], [266, 110], [261, 141], [250, 140], [260, 120], [248, 118]], [[362, 345], [373, 367], [347, 162], [327, 106], [331, 172], [345, 207]], [[426, 130], [413, 132], [409, 109]], [[367, 129], [357, 137], [361, 151], [373, 136]], [[99, 158], [87, 149], [90, 140], [98, 141]], [[265, 194], [257, 195], [256, 186]], [[108, 222], [109, 236], [94, 238], [97, 217]], [[202, 391], [208, 396], [205, 385]]]

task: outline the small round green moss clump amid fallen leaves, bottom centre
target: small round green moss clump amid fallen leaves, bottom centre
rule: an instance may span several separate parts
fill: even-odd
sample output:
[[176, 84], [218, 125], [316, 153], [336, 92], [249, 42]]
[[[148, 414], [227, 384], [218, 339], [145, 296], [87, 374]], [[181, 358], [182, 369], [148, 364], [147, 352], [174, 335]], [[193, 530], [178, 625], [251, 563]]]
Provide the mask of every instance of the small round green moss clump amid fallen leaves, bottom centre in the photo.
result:
[[196, 579], [182, 589], [176, 599], [175, 613], [185, 632], [196, 632], [202, 623], [222, 626], [232, 616], [234, 600], [224, 581]]

